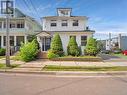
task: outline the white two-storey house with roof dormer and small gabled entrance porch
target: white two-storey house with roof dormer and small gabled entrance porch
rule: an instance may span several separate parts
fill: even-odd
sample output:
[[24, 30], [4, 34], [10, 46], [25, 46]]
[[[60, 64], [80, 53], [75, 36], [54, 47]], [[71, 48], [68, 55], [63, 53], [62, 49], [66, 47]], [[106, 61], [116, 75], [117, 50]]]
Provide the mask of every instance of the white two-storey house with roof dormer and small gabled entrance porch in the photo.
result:
[[72, 16], [71, 13], [71, 8], [58, 8], [57, 16], [43, 17], [43, 31], [38, 34], [38, 41], [42, 51], [47, 51], [50, 48], [51, 38], [54, 33], [59, 33], [65, 53], [67, 53], [70, 37], [74, 36], [83, 54], [87, 39], [95, 31], [89, 30], [87, 27], [88, 17]]

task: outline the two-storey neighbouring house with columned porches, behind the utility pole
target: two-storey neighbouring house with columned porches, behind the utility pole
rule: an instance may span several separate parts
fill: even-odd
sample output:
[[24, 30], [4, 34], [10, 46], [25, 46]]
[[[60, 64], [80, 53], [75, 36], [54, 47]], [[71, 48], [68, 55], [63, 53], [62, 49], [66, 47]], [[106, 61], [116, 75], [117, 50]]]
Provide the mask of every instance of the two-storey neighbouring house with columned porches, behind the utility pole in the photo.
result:
[[[18, 50], [21, 42], [27, 42], [27, 36], [41, 31], [42, 26], [33, 18], [15, 9], [15, 14], [10, 18], [10, 46]], [[6, 46], [6, 18], [0, 17], [0, 47]]]

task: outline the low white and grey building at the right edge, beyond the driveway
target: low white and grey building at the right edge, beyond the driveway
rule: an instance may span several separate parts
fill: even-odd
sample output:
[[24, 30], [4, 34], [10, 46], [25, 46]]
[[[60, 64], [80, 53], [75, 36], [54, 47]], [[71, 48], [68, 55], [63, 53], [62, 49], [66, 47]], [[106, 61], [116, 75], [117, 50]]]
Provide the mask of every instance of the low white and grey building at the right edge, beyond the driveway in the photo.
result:
[[[127, 36], [121, 36], [111, 38], [110, 40], [106, 40], [106, 50], [113, 50], [115, 48], [119, 48], [122, 50], [127, 50]], [[111, 43], [111, 46], [110, 46]]]

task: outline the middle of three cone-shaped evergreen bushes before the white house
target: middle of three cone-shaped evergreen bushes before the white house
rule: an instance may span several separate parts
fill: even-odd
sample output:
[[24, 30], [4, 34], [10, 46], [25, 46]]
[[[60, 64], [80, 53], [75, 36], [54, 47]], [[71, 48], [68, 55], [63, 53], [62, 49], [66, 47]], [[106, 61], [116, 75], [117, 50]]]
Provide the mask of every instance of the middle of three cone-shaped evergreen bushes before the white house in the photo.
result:
[[68, 52], [68, 55], [71, 55], [71, 56], [79, 56], [80, 55], [80, 50], [77, 45], [76, 39], [74, 37], [70, 38], [70, 41], [67, 46], [67, 52]]

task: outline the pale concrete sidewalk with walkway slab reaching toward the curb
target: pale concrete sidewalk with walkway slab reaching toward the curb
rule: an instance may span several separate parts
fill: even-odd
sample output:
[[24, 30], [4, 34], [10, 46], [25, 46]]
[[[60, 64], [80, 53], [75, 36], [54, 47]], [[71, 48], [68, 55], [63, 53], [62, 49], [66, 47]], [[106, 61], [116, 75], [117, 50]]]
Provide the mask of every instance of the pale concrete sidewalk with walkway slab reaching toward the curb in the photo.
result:
[[[0, 59], [0, 63], [5, 64], [5, 59]], [[49, 61], [45, 59], [38, 59], [31, 62], [21, 62], [11, 60], [11, 64], [21, 64], [13, 71], [41, 71], [45, 65], [58, 66], [127, 66], [127, 62], [75, 62], [75, 61]]]

